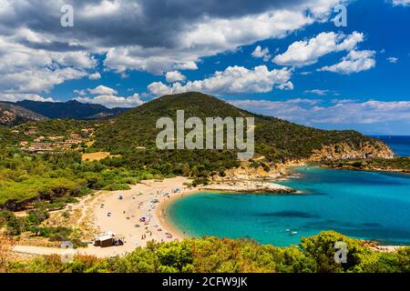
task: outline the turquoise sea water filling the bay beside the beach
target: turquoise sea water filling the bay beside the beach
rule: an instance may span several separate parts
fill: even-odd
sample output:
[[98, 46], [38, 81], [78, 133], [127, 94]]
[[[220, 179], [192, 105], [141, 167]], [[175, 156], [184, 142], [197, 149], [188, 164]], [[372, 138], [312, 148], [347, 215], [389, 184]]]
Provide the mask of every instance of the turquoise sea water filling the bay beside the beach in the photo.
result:
[[304, 195], [202, 193], [169, 205], [170, 221], [190, 236], [250, 237], [290, 246], [301, 236], [335, 230], [347, 236], [410, 245], [410, 175], [297, 168], [282, 185]]

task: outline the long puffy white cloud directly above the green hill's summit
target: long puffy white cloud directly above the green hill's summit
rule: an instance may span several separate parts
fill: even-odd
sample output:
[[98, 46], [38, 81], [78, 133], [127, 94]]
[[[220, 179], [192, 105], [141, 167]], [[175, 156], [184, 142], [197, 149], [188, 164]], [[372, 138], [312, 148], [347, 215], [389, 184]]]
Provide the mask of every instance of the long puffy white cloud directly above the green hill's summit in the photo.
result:
[[275, 86], [280, 89], [292, 89], [291, 76], [292, 71], [288, 68], [270, 71], [266, 65], [256, 66], [253, 69], [235, 65], [203, 80], [189, 81], [185, 85], [180, 83], [165, 85], [162, 82], [154, 82], [148, 86], [148, 89], [152, 95], [190, 91], [210, 94], [263, 93], [271, 92]]

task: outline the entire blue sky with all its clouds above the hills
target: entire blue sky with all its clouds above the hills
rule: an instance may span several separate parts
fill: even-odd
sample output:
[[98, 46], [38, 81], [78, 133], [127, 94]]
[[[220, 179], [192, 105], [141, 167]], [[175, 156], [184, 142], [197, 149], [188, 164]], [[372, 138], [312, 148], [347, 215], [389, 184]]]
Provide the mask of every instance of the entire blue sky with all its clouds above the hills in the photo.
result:
[[[130, 107], [195, 90], [303, 125], [410, 135], [410, 1], [185, 2], [3, 5], [0, 99]], [[64, 4], [73, 27], [59, 25]]]

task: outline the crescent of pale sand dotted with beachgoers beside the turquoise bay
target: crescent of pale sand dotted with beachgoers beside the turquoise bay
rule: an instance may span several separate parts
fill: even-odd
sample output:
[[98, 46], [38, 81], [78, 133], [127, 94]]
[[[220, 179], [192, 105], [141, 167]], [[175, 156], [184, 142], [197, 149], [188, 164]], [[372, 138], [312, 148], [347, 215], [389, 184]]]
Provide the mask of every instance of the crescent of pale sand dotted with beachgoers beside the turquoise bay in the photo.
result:
[[[112, 192], [98, 201], [95, 211], [97, 228], [100, 233], [111, 231], [125, 237], [124, 246], [112, 247], [120, 253], [131, 251], [136, 246], [145, 246], [150, 240], [163, 242], [180, 239], [180, 234], [166, 220], [164, 207], [172, 199], [198, 191], [184, 186], [186, 182], [188, 179], [185, 177], [161, 182], [148, 180], [132, 186], [131, 190]], [[179, 193], [175, 193], [176, 189]], [[140, 221], [143, 217], [145, 222]], [[97, 249], [101, 250], [100, 247]]]

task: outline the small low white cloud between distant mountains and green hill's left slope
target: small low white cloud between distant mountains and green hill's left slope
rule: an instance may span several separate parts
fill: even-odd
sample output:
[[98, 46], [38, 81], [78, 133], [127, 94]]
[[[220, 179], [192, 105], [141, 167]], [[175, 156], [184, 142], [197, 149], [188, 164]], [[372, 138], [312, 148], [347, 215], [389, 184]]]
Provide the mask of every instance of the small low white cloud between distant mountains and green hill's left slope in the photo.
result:
[[138, 94], [128, 97], [116, 95], [97, 95], [95, 97], [77, 97], [74, 98], [74, 100], [82, 103], [105, 105], [108, 108], [135, 107], [143, 104]]

